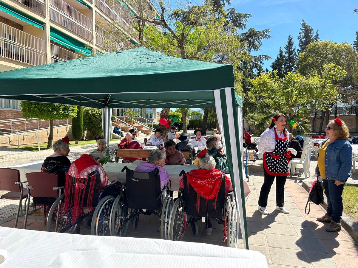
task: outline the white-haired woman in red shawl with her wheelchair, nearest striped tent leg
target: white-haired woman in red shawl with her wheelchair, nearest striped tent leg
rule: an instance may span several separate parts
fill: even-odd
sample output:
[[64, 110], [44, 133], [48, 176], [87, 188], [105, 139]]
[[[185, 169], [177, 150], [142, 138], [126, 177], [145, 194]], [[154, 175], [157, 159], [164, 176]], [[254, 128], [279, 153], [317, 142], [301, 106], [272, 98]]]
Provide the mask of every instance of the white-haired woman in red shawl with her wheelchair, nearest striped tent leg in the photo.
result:
[[[215, 166], [214, 158], [205, 154], [199, 158], [198, 170], [180, 173], [184, 176], [180, 180], [179, 197], [169, 218], [168, 236], [171, 240], [179, 240], [189, 224], [194, 236], [198, 235], [198, 220], [205, 217], [208, 235], [211, 234], [212, 218], [224, 225], [223, 242], [228, 236], [228, 244], [233, 244], [232, 237], [236, 237], [237, 228], [235, 203], [232, 194], [229, 193], [233, 190], [232, 184], [231, 180]], [[192, 215], [189, 220], [187, 214]]]

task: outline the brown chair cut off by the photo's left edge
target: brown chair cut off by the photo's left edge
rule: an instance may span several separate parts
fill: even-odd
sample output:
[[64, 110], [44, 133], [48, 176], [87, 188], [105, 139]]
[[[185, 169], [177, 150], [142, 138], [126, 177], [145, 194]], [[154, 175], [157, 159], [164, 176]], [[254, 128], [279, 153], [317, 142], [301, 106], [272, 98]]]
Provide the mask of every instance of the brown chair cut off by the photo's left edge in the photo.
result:
[[[27, 182], [20, 181], [20, 171], [12, 168], [0, 168], [0, 190], [10, 191], [1, 195], [0, 199], [19, 200], [18, 213], [16, 214], [15, 228], [18, 226], [19, 214], [22, 214], [22, 200], [28, 199], [28, 193], [24, 193], [23, 184]], [[25, 200], [25, 210], [26, 210]]]

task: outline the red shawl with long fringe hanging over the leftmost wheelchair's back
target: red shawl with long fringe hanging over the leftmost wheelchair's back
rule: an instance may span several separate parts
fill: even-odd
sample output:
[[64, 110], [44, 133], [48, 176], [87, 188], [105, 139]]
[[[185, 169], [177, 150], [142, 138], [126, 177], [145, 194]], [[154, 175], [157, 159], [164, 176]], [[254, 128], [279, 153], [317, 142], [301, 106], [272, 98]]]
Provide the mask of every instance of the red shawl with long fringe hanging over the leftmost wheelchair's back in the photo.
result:
[[[100, 172], [101, 188], [105, 187], [108, 184], [108, 176], [105, 170], [88, 154], [83, 154], [79, 159], [75, 160], [66, 173], [65, 210], [73, 207], [73, 220], [76, 220], [83, 214], [84, 190], [88, 183], [89, 191], [85, 206], [93, 210], [93, 192], [95, 190], [97, 174], [95, 173], [89, 179], [87, 175], [95, 170]], [[100, 189], [97, 190], [98, 192], [100, 191]]]

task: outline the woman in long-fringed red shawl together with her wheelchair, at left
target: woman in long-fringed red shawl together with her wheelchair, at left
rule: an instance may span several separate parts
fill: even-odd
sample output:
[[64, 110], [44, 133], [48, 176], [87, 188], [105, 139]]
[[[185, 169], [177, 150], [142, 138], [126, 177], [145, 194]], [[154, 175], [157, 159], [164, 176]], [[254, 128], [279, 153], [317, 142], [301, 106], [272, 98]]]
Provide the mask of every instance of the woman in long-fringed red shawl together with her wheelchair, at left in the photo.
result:
[[[81, 155], [67, 174], [64, 194], [52, 205], [47, 230], [79, 233], [82, 221], [92, 235], [110, 234], [110, 214], [115, 198], [121, 194], [119, 182], [110, 183], [100, 163], [103, 154], [97, 150]], [[88, 212], [84, 212], [84, 208]], [[55, 223], [52, 219], [55, 219]]]

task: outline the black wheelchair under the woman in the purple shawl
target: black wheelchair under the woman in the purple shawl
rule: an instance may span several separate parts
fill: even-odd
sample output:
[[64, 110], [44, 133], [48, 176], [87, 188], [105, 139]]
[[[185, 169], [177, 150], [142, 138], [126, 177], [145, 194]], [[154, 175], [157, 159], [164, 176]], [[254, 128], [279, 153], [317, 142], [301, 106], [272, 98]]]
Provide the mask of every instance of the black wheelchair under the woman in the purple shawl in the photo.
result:
[[122, 172], [124, 171], [126, 184], [112, 207], [111, 235], [125, 236], [129, 224], [136, 230], [140, 214], [153, 213], [161, 219], [157, 231], [160, 232], [160, 238], [168, 239], [169, 213], [173, 206], [173, 198], [169, 195], [168, 185], [163, 190], [160, 189], [159, 169], [142, 173], [124, 167]]

